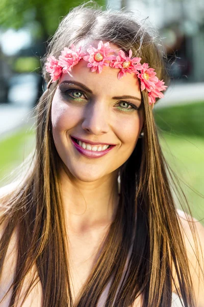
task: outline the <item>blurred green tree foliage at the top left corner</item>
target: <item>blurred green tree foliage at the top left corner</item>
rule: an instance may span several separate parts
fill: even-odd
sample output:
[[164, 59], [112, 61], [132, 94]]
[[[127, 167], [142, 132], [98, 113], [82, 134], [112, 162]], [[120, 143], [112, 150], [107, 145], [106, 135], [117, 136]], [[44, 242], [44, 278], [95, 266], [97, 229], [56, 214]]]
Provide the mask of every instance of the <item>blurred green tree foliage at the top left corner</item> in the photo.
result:
[[[95, 0], [90, 3], [101, 6], [106, 0]], [[19, 29], [35, 25], [33, 31], [39, 37], [48, 38], [53, 35], [60, 19], [75, 6], [87, 1], [82, 0], [1, 0], [0, 26], [3, 28]]]

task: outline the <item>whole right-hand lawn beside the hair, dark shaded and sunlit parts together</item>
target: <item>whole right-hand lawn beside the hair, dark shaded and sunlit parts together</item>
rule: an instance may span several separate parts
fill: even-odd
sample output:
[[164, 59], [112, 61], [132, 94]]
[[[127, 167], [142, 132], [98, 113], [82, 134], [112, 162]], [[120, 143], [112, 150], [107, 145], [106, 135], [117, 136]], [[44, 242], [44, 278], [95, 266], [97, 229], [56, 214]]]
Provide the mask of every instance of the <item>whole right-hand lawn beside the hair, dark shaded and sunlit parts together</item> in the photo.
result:
[[204, 101], [154, 109], [164, 156], [180, 178], [192, 214], [198, 220], [204, 218], [204, 199], [199, 196], [204, 195], [203, 115]]

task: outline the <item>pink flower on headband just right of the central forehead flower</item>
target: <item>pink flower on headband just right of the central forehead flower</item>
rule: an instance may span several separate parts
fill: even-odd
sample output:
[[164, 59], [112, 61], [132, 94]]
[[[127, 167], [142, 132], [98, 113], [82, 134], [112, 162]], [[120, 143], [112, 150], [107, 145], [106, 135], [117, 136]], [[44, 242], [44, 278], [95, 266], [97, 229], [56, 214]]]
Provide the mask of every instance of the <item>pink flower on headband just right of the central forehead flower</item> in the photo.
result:
[[139, 64], [141, 58], [138, 57], [131, 58], [132, 54], [133, 52], [131, 49], [129, 51], [129, 57], [125, 56], [124, 51], [120, 50], [118, 52], [118, 55], [116, 56], [116, 59], [110, 63], [110, 67], [121, 69], [121, 71], [118, 73], [119, 80], [123, 76], [126, 76], [126, 73], [132, 73], [134, 72], [134, 70], [141, 68], [141, 64]]

